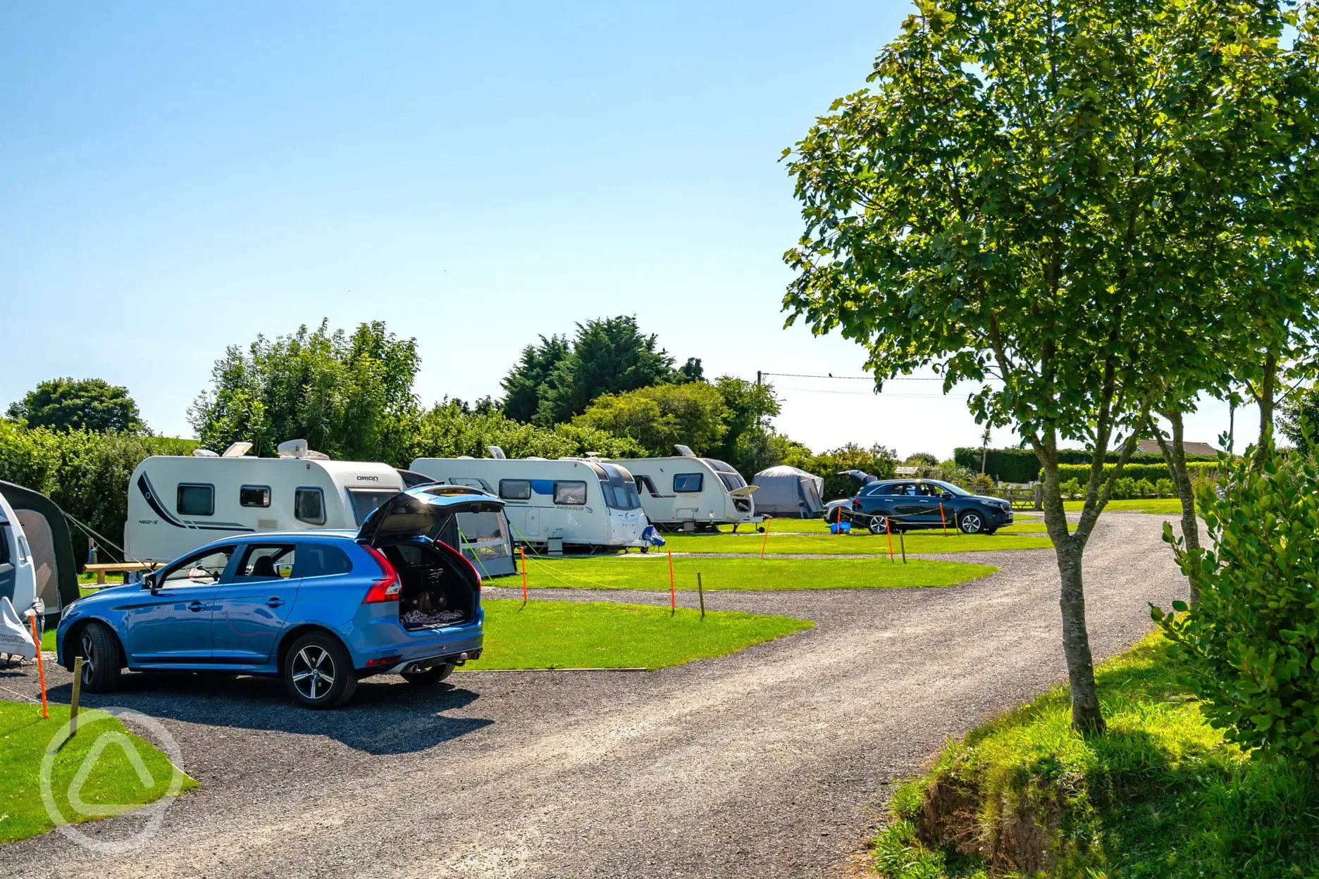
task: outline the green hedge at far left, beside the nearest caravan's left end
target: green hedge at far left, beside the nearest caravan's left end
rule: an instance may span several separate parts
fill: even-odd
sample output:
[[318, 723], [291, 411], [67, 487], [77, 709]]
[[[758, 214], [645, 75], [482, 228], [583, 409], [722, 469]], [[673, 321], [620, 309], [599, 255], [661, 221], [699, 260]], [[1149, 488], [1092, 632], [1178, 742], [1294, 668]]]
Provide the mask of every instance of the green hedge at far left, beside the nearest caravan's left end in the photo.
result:
[[[195, 440], [28, 428], [0, 419], [0, 480], [41, 492], [119, 544], [124, 540], [133, 469], [152, 455], [191, 455], [194, 448]], [[82, 563], [87, 557], [86, 535], [77, 527], [70, 531]], [[106, 556], [119, 556], [109, 547], [104, 550]]]

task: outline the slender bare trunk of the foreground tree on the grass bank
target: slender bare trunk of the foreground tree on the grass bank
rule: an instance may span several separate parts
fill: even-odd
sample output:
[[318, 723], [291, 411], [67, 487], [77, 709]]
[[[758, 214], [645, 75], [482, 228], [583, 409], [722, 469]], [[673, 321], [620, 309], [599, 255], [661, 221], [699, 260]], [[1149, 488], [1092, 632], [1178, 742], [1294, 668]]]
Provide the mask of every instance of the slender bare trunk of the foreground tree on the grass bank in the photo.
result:
[[1067, 534], [1067, 513], [1058, 485], [1057, 449], [1050, 444], [1045, 451], [1045, 525], [1054, 542], [1062, 579], [1058, 604], [1063, 617], [1063, 655], [1067, 659], [1067, 681], [1071, 688], [1072, 729], [1083, 734], [1103, 733], [1104, 714], [1099, 708], [1099, 691], [1095, 687], [1095, 660], [1086, 629], [1086, 589], [1080, 567], [1088, 535]]

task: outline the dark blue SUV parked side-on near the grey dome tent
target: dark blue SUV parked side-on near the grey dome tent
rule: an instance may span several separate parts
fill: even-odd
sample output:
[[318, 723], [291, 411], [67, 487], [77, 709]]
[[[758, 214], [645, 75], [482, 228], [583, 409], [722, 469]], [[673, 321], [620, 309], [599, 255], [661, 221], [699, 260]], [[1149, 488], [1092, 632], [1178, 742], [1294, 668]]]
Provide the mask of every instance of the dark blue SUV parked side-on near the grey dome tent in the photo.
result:
[[851, 521], [874, 534], [954, 526], [963, 534], [993, 534], [1012, 525], [1012, 505], [940, 480], [885, 480], [852, 498]]

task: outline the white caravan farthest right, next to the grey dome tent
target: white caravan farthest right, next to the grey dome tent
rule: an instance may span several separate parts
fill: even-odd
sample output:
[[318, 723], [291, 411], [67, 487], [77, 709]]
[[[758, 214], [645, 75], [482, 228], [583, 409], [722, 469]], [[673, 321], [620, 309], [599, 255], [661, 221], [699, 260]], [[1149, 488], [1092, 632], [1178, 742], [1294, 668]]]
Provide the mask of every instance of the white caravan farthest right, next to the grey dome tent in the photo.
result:
[[[673, 457], [620, 459], [637, 480], [646, 518], [663, 528], [695, 531], [719, 525], [760, 525], [754, 485], [728, 464], [696, 457], [686, 445]], [[611, 459], [612, 460], [612, 459]]]

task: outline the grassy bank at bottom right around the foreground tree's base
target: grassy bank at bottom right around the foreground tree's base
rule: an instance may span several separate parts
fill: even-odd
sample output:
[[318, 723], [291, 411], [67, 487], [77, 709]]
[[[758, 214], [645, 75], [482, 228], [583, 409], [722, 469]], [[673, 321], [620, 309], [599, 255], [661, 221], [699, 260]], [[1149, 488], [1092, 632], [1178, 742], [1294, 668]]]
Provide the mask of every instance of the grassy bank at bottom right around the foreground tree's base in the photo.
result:
[[1177, 683], [1154, 634], [1096, 669], [1108, 733], [1071, 731], [1064, 688], [980, 726], [893, 796], [889, 879], [1319, 875], [1319, 781], [1249, 760]]

